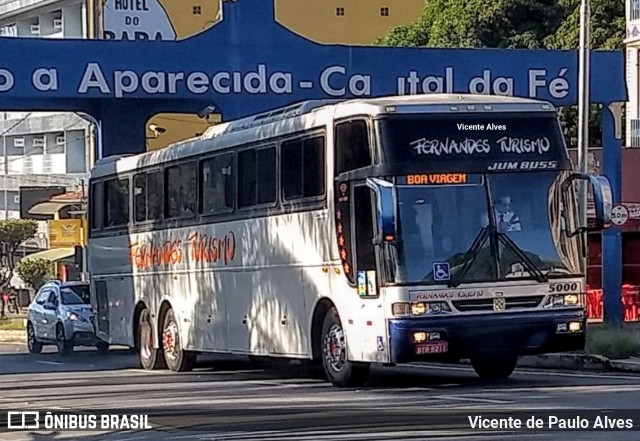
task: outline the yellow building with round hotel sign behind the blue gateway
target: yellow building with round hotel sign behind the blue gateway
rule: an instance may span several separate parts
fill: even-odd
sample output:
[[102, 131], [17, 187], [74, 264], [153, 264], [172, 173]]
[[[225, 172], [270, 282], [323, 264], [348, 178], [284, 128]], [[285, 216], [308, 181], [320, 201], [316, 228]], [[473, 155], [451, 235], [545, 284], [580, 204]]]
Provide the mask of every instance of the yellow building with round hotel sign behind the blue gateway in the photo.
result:
[[[97, 33], [105, 39], [184, 40], [220, 22], [222, 1], [103, 0], [96, 3]], [[389, 29], [416, 21], [424, 7], [424, 0], [265, 1], [275, 2], [280, 24], [323, 44], [374, 44]], [[147, 124], [147, 150], [199, 136], [220, 120], [220, 115], [156, 115]]]

